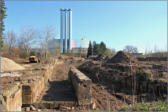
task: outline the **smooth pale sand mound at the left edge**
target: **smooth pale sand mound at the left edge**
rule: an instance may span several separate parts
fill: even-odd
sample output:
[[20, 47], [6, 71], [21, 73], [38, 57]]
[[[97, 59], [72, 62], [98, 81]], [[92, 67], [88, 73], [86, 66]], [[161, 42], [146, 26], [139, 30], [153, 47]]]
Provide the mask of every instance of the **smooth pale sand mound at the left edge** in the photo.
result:
[[24, 70], [24, 67], [15, 63], [13, 60], [1, 57], [1, 72]]

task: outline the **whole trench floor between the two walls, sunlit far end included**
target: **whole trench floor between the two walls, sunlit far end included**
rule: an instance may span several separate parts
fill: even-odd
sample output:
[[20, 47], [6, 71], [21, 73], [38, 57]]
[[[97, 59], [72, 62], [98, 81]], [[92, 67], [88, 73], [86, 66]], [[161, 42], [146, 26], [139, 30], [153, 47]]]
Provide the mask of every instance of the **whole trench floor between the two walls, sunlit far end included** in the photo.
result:
[[54, 67], [51, 80], [34, 103], [36, 108], [59, 109], [61, 106], [72, 107], [77, 104], [73, 86], [68, 80], [69, 69], [66, 64]]

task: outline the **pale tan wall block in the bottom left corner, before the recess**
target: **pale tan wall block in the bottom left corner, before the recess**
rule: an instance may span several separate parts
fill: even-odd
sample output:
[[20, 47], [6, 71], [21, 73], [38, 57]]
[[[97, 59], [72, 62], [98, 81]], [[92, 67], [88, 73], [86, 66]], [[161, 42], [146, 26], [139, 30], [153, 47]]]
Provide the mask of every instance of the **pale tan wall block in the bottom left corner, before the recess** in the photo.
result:
[[22, 88], [20, 85], [12, 84], [3, 89], [1, 94], [2, 111], [21, 111]]

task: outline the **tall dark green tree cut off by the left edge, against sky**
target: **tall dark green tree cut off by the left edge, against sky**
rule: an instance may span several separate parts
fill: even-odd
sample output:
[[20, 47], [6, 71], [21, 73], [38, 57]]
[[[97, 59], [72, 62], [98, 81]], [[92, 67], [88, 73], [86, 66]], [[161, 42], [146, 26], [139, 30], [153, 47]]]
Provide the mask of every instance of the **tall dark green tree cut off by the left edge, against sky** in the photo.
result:
[[0, 50], [3, 48], [3, 31], [5, 30], [4, 19], [6, 17], [6, 7], [4, 0], [0, 0]]

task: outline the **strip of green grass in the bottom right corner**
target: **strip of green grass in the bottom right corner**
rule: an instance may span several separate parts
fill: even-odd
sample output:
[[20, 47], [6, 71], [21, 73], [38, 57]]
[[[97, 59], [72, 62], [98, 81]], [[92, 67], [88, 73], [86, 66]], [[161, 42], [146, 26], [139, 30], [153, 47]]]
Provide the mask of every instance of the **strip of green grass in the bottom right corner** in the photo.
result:
[[133, 108], [124, 106], [122, 111], [167, 111], [168, 106], [166, 102], [152, 102], [152, 103], [138, 103]]

